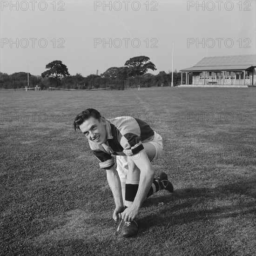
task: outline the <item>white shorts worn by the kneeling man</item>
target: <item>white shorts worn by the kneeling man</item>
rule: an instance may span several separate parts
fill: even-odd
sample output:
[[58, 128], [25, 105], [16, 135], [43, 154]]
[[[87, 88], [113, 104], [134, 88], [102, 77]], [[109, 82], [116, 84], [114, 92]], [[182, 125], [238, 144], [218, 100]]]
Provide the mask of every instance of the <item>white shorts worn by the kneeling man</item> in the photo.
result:
[[[154, 147], [155, 147], [154, 159], [158, 159], [160, 157], [160, 155], [162, 155], [162, 151], [163, 151], [162, 137], [154, 131], [154, 137], [153, 137], [152, 141], [145, 141], [145, 142], [149, 142], [152, 145], [154, 145]], [[143, 141], [142, 141], [142, 145], [143, 145]], [[116, 156], [116, 164], [117, 164], [116, 170], [118, 172], [120, 180], [121, 180], [121, 182], [125, 182], [126, 176], [128, 173], [127, 155], [117, 155]]]

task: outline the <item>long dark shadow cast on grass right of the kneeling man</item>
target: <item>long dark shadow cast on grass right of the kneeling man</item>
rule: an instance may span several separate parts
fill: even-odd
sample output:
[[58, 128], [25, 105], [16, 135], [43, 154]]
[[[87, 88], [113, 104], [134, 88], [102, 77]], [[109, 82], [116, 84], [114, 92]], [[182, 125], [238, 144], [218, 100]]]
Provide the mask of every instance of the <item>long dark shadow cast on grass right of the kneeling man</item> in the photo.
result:
[[146, 214], [146, 217], [139, 219], [141, 232], [154, 226], [170, 227], [254, 215], [255, 189], [255, 182], [243, 181], [213, 189], [178, 189], [172, 194], [148, 198], [143, 204], [143, 212], [150, 212], [155, 207], [159, 209], [157, 214]]

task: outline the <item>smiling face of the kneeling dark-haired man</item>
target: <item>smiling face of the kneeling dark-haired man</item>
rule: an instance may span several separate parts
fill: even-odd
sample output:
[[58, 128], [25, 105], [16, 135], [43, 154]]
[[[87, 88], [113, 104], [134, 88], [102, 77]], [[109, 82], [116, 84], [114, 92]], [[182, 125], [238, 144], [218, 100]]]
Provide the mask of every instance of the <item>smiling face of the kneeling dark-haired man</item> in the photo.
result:
[[101, 117], [101, 121], [99, 121], [91, 116], [79, 128], [88, 140], [94, 141], [98, 145], [107, 141], [106, 121], [104, 117]]

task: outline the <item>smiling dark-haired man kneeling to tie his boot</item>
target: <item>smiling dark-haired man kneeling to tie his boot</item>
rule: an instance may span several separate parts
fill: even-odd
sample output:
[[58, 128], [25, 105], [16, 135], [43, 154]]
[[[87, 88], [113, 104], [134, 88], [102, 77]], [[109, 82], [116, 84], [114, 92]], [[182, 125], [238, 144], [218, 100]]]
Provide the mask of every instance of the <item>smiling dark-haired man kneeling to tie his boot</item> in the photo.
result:
[[73, 126], [75, 131], [80, 129], [87, 137], [100, 167], [107, 171], [115, 200], [113, 219], [124, 221], [121, 235], [136, 235], [138, 225], [135, 218], [144, 200], [161, 189], [173, 192], [165, 173], [154, 179], [151, 161], [162, 153], [162, 137], [140, 119], [120, 116], [107, 120], [93, 108], [77, 115]]

